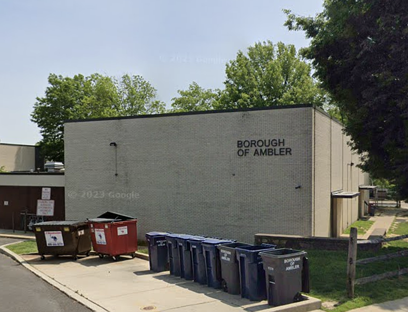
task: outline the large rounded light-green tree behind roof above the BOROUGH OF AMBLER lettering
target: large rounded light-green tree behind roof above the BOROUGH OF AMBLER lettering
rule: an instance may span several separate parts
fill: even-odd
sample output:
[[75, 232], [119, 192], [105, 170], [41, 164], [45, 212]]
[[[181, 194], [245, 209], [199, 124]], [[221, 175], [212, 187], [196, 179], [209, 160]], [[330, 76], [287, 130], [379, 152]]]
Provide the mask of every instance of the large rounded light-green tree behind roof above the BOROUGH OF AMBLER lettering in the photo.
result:
[[311, 76], [311, 67], [301, 60], [293, 45], [271, 41], [238, 51], [225, 69], [226, 81], [219, 107], [249, 108], [299, 103], [322, 106], [325, 93]]

